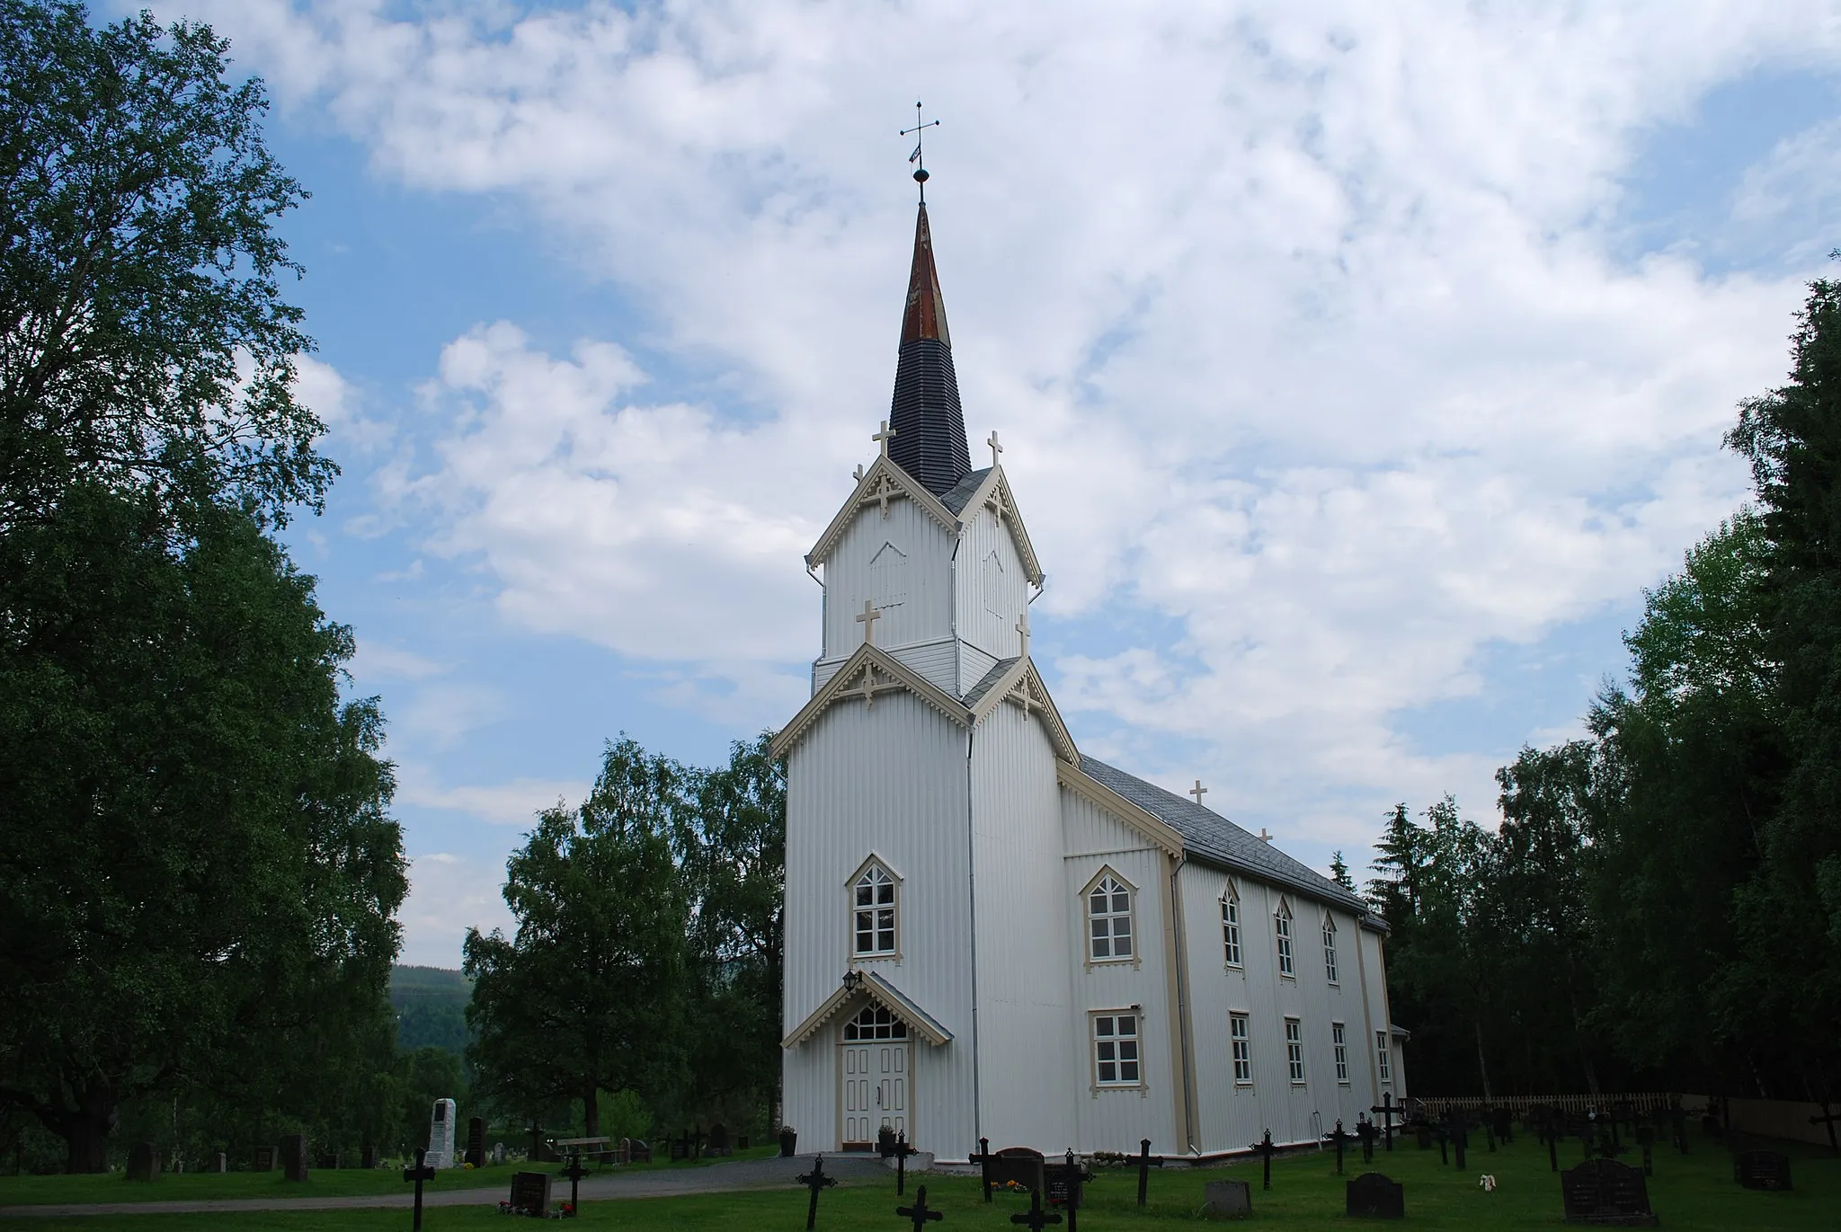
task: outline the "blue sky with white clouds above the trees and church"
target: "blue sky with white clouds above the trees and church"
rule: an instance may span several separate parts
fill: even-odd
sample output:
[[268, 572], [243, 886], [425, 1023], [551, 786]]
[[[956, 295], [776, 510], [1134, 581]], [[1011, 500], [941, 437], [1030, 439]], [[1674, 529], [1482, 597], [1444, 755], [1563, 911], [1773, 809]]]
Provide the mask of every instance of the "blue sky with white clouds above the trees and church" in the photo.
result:
[[1491, 825], [1581, 733], [1841, 247], [1828, 4], [155, 11], [232, 41], [313, 193], [342, 477], [287, 540], [388, 720], [412, 963], [510, 926], [608, 738], [716, 764], [808, 696], [915, 99], [1075, 740], [1316, 867], [1397, 801]]

